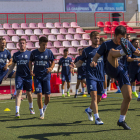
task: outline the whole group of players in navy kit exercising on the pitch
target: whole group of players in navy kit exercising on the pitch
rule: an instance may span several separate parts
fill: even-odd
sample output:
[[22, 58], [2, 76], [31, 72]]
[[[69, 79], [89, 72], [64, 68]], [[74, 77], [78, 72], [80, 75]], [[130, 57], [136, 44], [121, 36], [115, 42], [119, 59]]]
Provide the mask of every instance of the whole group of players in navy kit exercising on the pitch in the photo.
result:
[[[135, 80], [140, 81], [140, 64], [138, 49], [139, 42], [137, 39], [132, 40], [132, 44], [126, 41], [126, 28], [118, 26], [115, 29], [114, 39], [100, 43], [100, 35], [93, 31], [90, 34], [92, 45], [79, 50], [80, 56], [75, 62], [68, 57], [68, 50], [64, 50], [64, 56], [59, 60], [57, 74], [59, 74], [60, 66], [62, 65], [62, 96], [64, 97], [64, 85], [67, 81], [67, 95], [70, 89], [70, 73], [74, 74], [74, 68], [78, 68], [78, 83], [76, 86], [76, 94], [78, 92], [79, 83], [82, 82], [82, 92], [84, 93], [84, 84], [88, 93], [91, 96], [91, 105], [85, 109], [90, 121], [93, 121], [92, 111], [95, 117], [95, 124], [101, 125], [98, 114], [98, 103], [101, 101], [103, 91], [103, 82], [105, 73], [118, 81], [119, 87], [123, 94], [123, 102], [121, 105], [121, 114], [117, 122], [126, 130], [131, 128], [126, 124], [125, 117], [131, 100], [131, 85], [135, 84]], [[15, 77], [16, 85], [16, 118], [20, 117], [19, 108], [21, 103], [21, 95], [23, 88], [27, 92], [29, 101], [29, 110], [31, 114], [35, 114], [32, 100], [32, 76], [34, 76], [35, 93], [37, 94], [37, 103], [40, 110], [40, 119], [44, 119], [45, 110], [50, 101], [50, 78], [51, 71], [55, 66], [54, 55], [51, 50], [47, 49], [48, 39], [46, 37], [39, 38], [40, 48], [27, 51], [26, 40], [19, 40], [20, 50], [13, 55], [13, 62], [10, 52], [5, 49], [6, 40], [0, 38], [0, 81], [8, 77]], [[7, 63], [7, 59], [9, 62]], [[128, 64], [128, 62], [130, 64]], [[13, 71], [17, 64], [16, 72]], [[11, 66], [10, 66], [11, 65]], [[34, 71], [32, 66], [34, 65]], [[7, 69], [10, 66], [9, 70]], [[82, 66], [82, 67], [81, 67]], [[81, 69], [79, 69], [81, 67]], [[129, 73], [129, 76], [128, 76]], [[130, 78], [130, 79], [129, 79]], [[45, 94], [44, 106], [42, 103], [42, 94]], [[140, 99], [140, 91], [139, 97]]]

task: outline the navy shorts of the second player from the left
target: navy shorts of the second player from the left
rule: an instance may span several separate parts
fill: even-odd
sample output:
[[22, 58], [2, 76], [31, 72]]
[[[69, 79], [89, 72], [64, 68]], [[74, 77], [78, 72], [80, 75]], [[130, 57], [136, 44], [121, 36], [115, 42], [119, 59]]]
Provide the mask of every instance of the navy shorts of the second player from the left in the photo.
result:
[[32, 91], [32, 78], [26, 79], [16, 75], [15, 84], [16, 90]]

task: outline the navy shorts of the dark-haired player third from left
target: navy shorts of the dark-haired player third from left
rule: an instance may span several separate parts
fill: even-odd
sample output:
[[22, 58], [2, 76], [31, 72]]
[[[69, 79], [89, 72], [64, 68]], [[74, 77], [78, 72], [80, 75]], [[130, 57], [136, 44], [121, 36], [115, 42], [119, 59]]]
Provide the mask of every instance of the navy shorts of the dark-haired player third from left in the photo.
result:
[[50, 80], [40, 80], [34, 78], [35, 93], [51, 94]]

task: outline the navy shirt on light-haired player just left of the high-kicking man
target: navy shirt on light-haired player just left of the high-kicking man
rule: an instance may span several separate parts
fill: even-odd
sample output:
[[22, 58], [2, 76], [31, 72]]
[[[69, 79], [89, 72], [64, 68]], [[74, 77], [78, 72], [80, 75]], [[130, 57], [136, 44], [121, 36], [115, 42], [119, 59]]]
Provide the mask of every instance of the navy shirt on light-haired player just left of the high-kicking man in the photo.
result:
[[93, 57], [95, 56], [96, 52], [99, 50], [98, 48], [93, 48], [91, 46], [85, 48], [82, 53], [81, 60], [84, 62], [87, 60], [86, 63], [86, 79], [92, 79], [95, 81], [104, 81], [104, 62], [103, 57], [100, 57], [97, 62], [96, 67], [90, 67], [90, 63], [92, 62]]

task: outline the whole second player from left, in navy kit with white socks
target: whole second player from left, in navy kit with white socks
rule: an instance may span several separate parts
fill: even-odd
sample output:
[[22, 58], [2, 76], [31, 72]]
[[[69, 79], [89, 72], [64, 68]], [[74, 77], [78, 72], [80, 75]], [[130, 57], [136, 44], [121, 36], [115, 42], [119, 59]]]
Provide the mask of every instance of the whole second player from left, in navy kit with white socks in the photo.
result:
[[33, 98], [32, 98], [32, 77], [30, 75], [29, 70], [29, 60], [31, 52], [26, 50], [26, 39], [21, 38], [19, 39], [19, 47], [20, 50], [13, 55], [13, 63], [5, 76], [9, 75], [11, 71], [14, 69], [15, 65], [17, 64], [16, 69], [16, 78], [15, 78], [15, 85], [17, 90], [16, 95], [16, 118], [20, 118], [19, 108], [21, 104], [21, 95], [22, 90], [26, 90], [28, 101], [29, 101], [29, 110], [30, 114], [35, 114], [33, 110]]

